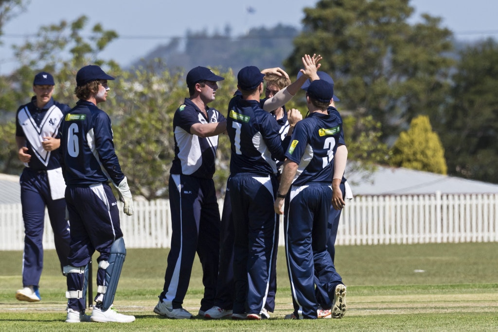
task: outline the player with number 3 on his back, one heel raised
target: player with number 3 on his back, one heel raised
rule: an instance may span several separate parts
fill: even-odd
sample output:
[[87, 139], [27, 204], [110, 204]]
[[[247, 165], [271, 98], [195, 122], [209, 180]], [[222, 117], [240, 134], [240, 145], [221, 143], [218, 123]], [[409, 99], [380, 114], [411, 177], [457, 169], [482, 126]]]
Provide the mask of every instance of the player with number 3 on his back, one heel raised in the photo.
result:
[[275, 212], [284, 214], [285, 200], [285, 251], [294, 306], [288, 319], [317, 318], [315, 273], [334, 303], [332, 315], [341, 318], [346, 312], [346, 286], [327, 250], [330, 202], [334, 208], [345, 204], [339, 186], [347, 160], [342, 119], [328, 112], [333, 94], [324, 80], [309, 85], [309, 116], [294, 128], [274, 202]]

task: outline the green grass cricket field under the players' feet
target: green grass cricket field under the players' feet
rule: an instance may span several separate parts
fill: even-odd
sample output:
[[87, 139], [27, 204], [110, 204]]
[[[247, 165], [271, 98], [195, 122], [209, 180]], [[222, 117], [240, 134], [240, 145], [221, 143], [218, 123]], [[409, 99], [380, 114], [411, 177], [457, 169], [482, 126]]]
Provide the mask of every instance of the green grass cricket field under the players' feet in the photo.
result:
[[[115, 307], [135, 315], [135, 322], [70, 325], [64, 322], [66, 280], [59, 272], [55, 250], [45, 251], [42, 301], [38, 303], [14, 297], [22, 283], [22, 252], [0, 251], [0, 330], [498, 330], [498, 243], [337, 247], [336, 268], [348, 286], [348, 312], [341, 320], [315, 321], [283, 319], [292, 312], [283, 248], [278, 252], [277, 308], [269, 320], [162, 318], [152, 309], [162, 290], [167, 253], [168, 249], [128, 249]], [[95, 271], [96, 266], [94, 276]], [[202, 292], [200, 263], [196, 261], [184, 308], [197, 313]]]

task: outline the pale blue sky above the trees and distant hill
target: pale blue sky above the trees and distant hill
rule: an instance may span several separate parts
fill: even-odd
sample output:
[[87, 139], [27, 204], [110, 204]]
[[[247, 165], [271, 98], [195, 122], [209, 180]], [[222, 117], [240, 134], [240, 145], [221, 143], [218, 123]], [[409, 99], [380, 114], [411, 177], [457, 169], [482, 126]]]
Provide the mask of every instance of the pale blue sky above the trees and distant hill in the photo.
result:
[[[298, 2], [299, 4], [295, 4]], [[232, 35], [251, 27], [273, 27], [277, 23], [300, 27], [303, 8], [317, 0], [32, 0], [27, 11], [4, 26], [0, 45], [0, 74], [16, 68], [11, 44], [21, 45], [26, 35], [34, 35], [43, 25], [72, 21], [85, 14], [90, 25], [102, 23], [121, 36], [101, 54], [125, 66], [139, 59], [171, 37], [182, 37], [187, 30], [209, 33], [232, 27]], [[498, 39], [498, 1], [495, 0], [410, 0], [415, 7], [411, 22], [422, 12], [443, 18], [442, 26], [451, 29], [458, 39]], [[249, 13], [248, 7], [252, 8]]]

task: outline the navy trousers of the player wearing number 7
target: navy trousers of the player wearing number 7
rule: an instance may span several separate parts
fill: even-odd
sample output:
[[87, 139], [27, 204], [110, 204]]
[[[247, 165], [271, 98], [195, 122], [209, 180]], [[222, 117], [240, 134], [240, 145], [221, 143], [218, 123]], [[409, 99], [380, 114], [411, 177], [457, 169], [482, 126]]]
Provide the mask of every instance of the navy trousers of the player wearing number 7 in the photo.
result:
[[240, 173], [230, 178], [234, 218], [234, 314], [259, 315], [270, 287], [278, 217], [273, 209], [277, 180]]

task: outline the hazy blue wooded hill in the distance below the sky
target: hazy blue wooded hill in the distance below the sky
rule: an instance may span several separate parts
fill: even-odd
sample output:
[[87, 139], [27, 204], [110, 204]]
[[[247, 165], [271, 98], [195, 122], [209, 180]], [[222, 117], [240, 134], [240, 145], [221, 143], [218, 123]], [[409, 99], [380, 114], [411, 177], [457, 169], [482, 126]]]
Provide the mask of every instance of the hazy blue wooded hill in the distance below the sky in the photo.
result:
[[160, 58], [174, 70], [189, 70], [196, 66], [232, 68], [237, 73], [245, 66], [260, 69], [282, 67], [282, 61], [293, 49], [292, 41], [300, 33], [293, 26], [278, 24], [273, 28], [252, 28], [246, 35], [235, 38], [229, 33], [208, 35], [187, 32], [185, 38], [175, 38], [160, 45], [131, 67], [146, 65]]

